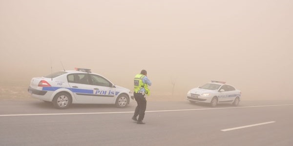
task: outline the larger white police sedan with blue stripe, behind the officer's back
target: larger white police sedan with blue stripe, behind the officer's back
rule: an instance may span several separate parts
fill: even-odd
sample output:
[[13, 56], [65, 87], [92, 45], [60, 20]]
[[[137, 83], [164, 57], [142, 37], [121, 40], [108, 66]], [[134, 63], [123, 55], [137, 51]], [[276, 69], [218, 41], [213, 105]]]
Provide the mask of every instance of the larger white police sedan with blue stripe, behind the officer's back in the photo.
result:
[[34, 98], [52, 102], [58, 109], [66, 109], [70, 104], [115, 104], [118, 108], [124, 108], [130, 98], [133, 99], [129, 89], [81, 68], [34, 77], [28, 92]]

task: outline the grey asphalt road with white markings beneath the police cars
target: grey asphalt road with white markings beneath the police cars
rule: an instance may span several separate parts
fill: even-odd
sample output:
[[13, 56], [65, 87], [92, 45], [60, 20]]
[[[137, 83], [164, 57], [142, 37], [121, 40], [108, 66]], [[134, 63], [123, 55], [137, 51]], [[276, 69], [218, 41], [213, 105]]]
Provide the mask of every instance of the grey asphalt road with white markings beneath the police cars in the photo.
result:
[[293, 146], [293, 100], [148, 102], [145, 125], [131, 120], [135, 106], [0, 101], [0, 146]]

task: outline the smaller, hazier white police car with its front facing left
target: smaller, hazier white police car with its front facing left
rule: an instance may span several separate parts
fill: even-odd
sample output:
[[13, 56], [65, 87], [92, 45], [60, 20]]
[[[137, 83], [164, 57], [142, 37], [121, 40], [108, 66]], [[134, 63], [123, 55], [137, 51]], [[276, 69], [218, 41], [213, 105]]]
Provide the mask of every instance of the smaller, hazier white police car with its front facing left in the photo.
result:
[[221, 81], [211, 81], [203, 86], [191, 89], [187, 93], [187, 100], [191, 103], [209, 103], [212, 107], [220, 103], [232, 103], [234, 106], [238, 106], [240, 98], [241, 91]]

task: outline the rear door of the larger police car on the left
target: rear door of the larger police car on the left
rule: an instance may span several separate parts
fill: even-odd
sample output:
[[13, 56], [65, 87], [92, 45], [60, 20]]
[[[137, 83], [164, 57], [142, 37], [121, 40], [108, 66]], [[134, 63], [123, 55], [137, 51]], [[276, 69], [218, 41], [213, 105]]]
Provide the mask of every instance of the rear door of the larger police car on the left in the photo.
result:
[[89, 84], [88, 73], [71, 73], [67, 75], [70, 91], [73, 92], [77, 102], [92, 102], [93, 89]]

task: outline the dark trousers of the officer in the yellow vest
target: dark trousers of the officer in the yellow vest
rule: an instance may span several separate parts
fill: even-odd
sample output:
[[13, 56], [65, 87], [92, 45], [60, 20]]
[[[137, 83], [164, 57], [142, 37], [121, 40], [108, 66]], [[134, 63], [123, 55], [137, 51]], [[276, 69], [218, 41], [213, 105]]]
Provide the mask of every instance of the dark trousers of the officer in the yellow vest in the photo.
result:
[[134, 117], [138, 117], [138, 121], [142, 121], [144, 120], [145, 117], [145, 111], [146, 111], [146, 98], [145, 95], [143, 95], [142, 93], [133, 93], [134, 98], [137, 102], [137, 106], [135, 108], [134, 111]]

